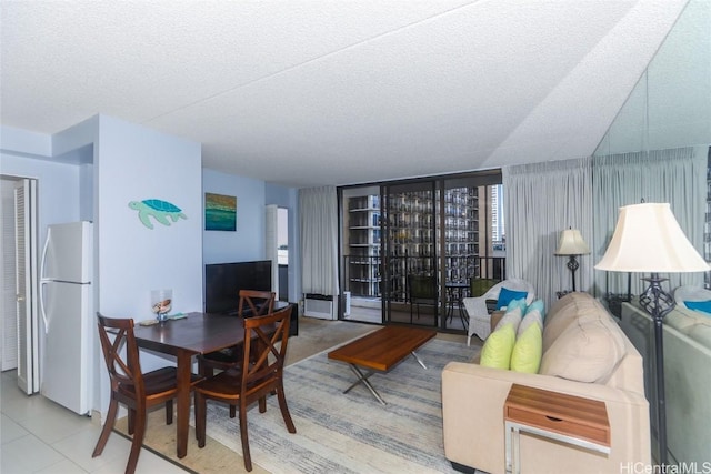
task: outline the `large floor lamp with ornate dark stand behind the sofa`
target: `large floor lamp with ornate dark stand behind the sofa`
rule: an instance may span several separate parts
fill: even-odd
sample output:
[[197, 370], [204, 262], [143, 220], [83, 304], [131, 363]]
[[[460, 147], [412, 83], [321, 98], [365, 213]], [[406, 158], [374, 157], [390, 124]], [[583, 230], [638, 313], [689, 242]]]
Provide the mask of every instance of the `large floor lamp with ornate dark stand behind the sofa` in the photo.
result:
[[674, 299], [662, 290], [668, 279], [660, 273], [707, 272], [709, 264], [689, 242], [668, 203], [642, 203], [620, 208], [614, 234], [597, 270], [650, 273], [642, 280], [649, 286], [640, 305], [654, 324], [654, 365], [657, 371], [657, 441], [659, 462], [667, 460], [667, 411], [664, 397], [664, 316], [674, 307]]

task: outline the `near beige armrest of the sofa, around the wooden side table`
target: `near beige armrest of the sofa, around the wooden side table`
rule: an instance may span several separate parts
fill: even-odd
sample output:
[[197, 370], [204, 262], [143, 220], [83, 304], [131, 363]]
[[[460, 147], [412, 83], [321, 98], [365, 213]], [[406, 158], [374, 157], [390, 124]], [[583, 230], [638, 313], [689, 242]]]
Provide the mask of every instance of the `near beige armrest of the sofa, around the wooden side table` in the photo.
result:
[[489, 473], [505, 471], [503, 404], [513, 383], [603, 401], [612, 435], [612, 452], [608, 456], [522, 436], [523, 463], [535, 465], [541, 472], [581, 472], [581, 466], [589, 472], [618, 472], [620, 463], [651, 462], [649, 404], [644, 396], [603, 384], [462, 362], [450, 362], [442, 371], [448, 460]]

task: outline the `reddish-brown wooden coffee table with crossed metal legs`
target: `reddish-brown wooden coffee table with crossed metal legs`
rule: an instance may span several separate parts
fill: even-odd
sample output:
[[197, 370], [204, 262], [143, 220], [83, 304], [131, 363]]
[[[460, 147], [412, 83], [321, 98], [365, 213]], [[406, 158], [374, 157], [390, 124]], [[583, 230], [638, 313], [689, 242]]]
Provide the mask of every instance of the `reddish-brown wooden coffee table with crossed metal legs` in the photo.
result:
[[[329, 352], [329, 359], [348, 363], [358, 377], [343, 393], [348, 393], [356, 385], [362, 383], [384, 405], [385, 401], [370, 384], [368, 377], [375, 371], [390, 371], [410, 354], [414, 356], [422, 367], [427, 369], [414, 351], [435, 335], [437, 331], [433, 330], [387, 326]], [[360, 367], [370, 369], [371, 372], [363, 374]]]

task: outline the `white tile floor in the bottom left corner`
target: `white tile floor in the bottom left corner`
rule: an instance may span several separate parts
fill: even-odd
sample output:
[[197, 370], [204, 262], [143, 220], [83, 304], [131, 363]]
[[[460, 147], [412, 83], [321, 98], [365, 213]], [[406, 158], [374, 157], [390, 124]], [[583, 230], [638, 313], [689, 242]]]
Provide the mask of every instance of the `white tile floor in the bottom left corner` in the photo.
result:
[[[112, 433], [103, 454], [91, 457], [101, 427], [40, 394], [24, 395], [17, 372], [0, 377], [0, 473], [123, 473], [130, 442]], [[137, 473], [181, 473], [181, 467], [142, 450]]]

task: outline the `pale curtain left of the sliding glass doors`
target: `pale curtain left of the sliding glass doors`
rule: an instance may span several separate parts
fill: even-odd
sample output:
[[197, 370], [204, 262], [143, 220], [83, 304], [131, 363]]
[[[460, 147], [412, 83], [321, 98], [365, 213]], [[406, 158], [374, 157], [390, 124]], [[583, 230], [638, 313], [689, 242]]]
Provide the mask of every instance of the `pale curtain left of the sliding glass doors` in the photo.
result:
[[338, 198], [334, 186], [299, 190], [303, 293], [339, 295]]

